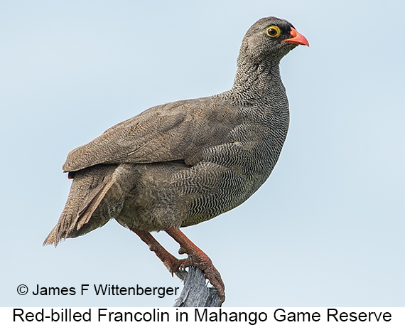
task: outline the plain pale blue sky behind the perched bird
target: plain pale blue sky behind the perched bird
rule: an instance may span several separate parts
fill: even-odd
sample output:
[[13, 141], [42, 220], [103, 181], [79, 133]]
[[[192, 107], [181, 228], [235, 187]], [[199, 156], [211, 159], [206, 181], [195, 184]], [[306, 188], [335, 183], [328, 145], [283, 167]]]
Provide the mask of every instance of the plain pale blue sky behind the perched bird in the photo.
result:
[[0, 306], [173, 304], [16, 288], [182, 287], [114, 220], [42, 247], [70, 188], [61, 166], [148, 107], [228, 90], [244, 33], [279, 16], [311, 44], [281, 63], [279, 163], [242, 206], [184, 232], [220, 270], [225, 307], [404, 307], [404, 2], [143, 2], [0, 2]]

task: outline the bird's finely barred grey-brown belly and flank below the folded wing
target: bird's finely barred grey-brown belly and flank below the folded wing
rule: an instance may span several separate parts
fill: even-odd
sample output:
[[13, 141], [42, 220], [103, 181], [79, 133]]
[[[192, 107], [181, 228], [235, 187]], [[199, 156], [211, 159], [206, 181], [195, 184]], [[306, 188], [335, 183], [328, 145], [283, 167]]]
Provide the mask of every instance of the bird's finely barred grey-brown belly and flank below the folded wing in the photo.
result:
[[233, 145], [234, 152], [207, 155], [195, 166], [120, 165], [114, 174], [124, 204], [114, 218], [131, 228], [159, 231], [195, 225], [239, 206], [269, 177], [281, 149]]

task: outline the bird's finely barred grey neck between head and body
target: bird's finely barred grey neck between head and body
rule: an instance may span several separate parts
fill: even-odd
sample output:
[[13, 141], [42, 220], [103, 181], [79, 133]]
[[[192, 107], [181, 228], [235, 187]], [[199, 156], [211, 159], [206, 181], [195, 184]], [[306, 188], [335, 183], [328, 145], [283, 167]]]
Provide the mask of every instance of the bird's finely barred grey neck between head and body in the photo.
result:
[[246, 105], [258, 100], [266, 102], [281, 93], [285, 93], [285, 90], [281, 82], [279, 61], [245, 64], [240, 60], [232, 89], [222, 95]]

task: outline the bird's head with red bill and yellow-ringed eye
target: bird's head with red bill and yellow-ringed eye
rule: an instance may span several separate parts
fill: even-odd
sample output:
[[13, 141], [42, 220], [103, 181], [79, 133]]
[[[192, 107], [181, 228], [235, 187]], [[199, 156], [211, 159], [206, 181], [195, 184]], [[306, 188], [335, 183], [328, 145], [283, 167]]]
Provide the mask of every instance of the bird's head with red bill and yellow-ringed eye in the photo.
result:
[[251, 63], [279, 61], [298, 45], [309, 46], [307, 39], [288, 21], [276, 17], [261, 18], [247, 31], [241, 54]]

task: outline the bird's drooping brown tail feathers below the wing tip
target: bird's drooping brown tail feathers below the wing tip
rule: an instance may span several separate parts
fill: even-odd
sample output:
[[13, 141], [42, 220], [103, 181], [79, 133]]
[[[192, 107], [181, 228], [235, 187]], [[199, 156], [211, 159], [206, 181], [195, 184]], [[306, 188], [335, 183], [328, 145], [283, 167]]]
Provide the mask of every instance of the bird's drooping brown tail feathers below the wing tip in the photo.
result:
[[92, 214], [114, 184], [112, 174], [116, 168], [117, 165], [97, 165], [73, 174], [68, 201], [43, 245], [56, 246], [61, 240], [85, 235], [107, 223], [109, 218], [92, 218]]

